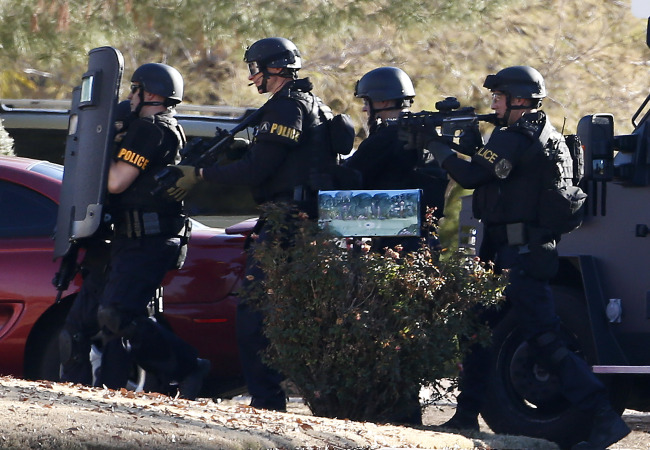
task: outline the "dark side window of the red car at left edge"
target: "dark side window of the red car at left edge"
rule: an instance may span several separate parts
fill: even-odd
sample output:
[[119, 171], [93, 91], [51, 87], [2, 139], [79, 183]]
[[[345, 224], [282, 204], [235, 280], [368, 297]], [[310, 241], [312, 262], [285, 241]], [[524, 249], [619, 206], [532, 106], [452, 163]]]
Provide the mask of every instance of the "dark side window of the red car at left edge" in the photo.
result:
[[0, 181], [0, 238], [51, 236], [57, 205], [36, 191]]

